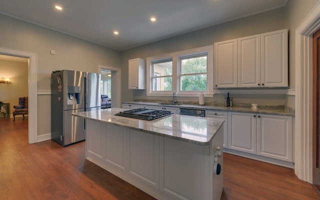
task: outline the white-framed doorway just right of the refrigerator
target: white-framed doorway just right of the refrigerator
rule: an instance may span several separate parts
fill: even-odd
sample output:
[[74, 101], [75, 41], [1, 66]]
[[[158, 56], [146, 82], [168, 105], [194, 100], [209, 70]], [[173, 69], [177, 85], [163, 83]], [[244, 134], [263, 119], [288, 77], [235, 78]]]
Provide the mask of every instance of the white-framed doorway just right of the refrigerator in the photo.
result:
[[[121, 107], [121, 70], [120, 68], [109, 67], [98, 65], [98, 70], [101, 73], [101, 81], [105, 79], [103, 85], [101, 86], [101, 92], [103, 94], [108, 94], [112, 99], [111, 100], [111, 107]], [[103, 91], [102, 91], [103, 89]], [[101, 93], [102, 94], [102, 93]]]

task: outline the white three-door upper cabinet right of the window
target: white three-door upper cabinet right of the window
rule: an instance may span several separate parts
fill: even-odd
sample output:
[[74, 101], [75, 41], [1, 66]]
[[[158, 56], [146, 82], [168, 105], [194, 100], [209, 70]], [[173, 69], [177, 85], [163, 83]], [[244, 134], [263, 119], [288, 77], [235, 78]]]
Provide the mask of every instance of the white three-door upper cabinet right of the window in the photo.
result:
[[287, 39], [282, 29], [215, 42], [215, 87], [287, 87]]

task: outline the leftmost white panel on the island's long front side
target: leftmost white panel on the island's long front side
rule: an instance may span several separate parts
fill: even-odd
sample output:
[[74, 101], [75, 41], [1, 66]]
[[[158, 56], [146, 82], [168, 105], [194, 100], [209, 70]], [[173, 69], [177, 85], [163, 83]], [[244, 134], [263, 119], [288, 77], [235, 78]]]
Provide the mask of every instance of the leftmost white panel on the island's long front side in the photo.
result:
[[85, 120], [86, 121], [86, 137], [85, 145], [86, 145], [86, 156], [94, 157], [97, 159], [101, 159], [103, 157], [103, 139], [102, 139], [102, 126], [98, 121], [94, 120]]

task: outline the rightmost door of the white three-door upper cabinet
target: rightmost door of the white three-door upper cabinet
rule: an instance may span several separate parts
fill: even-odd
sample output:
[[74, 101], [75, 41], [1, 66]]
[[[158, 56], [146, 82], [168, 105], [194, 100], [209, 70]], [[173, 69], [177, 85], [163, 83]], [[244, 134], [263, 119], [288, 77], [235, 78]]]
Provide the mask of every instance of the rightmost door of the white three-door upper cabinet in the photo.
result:
[[287, 29], [261, 34], [261, 86], [288, 86]]

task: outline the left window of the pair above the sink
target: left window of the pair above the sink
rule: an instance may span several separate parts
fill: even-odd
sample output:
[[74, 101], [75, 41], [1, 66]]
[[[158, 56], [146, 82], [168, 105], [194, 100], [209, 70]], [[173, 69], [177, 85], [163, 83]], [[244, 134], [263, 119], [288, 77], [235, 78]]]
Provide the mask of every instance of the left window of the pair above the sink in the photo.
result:
[[172, 60], [152, 62], [152, 91], [172, 91]]

